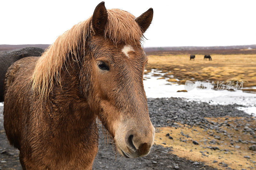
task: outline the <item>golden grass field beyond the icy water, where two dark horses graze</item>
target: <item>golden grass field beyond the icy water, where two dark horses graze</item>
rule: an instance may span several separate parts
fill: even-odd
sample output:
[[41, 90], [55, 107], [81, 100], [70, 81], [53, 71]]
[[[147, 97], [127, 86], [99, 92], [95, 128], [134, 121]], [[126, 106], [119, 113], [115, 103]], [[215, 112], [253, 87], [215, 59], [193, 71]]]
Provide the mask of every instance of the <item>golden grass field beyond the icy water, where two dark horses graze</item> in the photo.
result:
[[[249, 54], [244, 54], [247, 51]], [[170, 54], [173, 51], [158, 52], [158, 55], [152, 52], [148, 55], [146, 70], [171, 71], [174, 78], [183, 80], [182, 83], [185, 82], [184, 80], [193, 81], [193, 79], [211, 82], [244, 81], [244, 87], [252, 87], [256, 86], [256, 51], [251, 54], [253, 51], [233, 50], [233, 53], [236, 54], [225, 54], [227, 53], [225, 50], [222, 50], [224, 54], [211, 54], [210, 51], [204, 51], [205, 54], [211, 54], [212, 61], [204, 60], [203, 54], [196, 55], [195, 61], [190, 61], [188, 53], [191, 51], [183, 51], [183, 54], [181, 51], [174, 51], [177, 54]], [[202, 53], [202, 51], [198, 51], [198, 53]]]

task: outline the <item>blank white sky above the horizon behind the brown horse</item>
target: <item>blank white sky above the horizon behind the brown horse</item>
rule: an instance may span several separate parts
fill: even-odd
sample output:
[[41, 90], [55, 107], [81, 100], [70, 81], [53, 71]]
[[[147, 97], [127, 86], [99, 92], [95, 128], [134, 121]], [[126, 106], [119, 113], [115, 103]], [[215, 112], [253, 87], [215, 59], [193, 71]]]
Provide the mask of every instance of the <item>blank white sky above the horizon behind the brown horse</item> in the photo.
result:
[[[0, 44], [51, 44], [101, 1], [1, 0]], [[256, 0], [105, 0], [140, 16], [154, 9], [144, 47], [256, 44]]]

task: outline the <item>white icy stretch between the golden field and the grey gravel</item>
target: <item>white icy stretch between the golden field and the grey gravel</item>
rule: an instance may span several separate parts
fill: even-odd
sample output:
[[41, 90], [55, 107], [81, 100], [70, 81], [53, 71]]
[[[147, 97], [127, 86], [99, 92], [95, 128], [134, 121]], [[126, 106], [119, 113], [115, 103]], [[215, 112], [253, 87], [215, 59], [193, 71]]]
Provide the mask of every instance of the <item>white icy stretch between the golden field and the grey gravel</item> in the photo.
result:
[[[153, 76], [160, 74], [160, 76]], [[245, 93], [242, 90], [214, 90], [208, 89], [191, 89], [188, 92], [177, 92], [178, 90], [185, 90], [185, 85], [171, 83], [167, 79], [158, 79], [165, 73], [152, 69], [152, 72], [145, 74], [143, 81], [144, 89], [147, 97], [161, 98], [161, 97], [183, 97], [188, 101], [207, 102], [210, 104], [241, 104], [244, 106], [256, 106], [256, 94]], [[158, 80], [157, 80], [158, 79]], [[254, 111], [254, 113], [256, 113]]]

